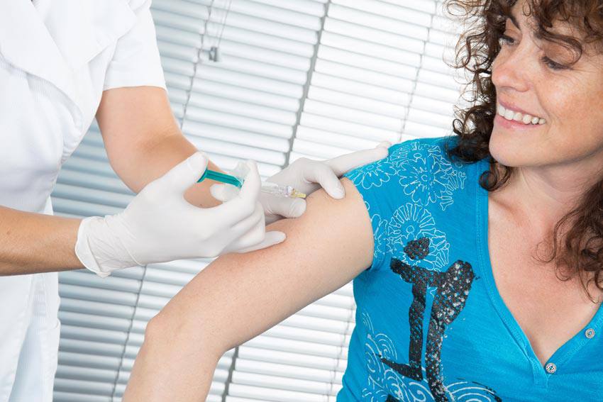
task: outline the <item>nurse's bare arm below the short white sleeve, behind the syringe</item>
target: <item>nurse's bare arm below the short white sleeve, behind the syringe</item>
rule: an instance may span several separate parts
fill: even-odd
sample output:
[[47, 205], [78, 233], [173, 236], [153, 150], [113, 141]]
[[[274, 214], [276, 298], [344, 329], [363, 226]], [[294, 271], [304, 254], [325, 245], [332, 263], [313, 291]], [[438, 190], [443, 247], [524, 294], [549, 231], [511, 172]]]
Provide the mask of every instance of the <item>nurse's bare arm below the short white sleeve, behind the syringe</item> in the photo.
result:
[[[165, 89], [157, 86], [104, 91], [96, 121], [111, 167], [135, 193], [197, 152], [182, 135]], [[211, 162], [208, 169], [219, 170]], [[185, 198], [197, 206], [218, 205], [209, 193], [211, 184], [204, 180], [192, 186]]]

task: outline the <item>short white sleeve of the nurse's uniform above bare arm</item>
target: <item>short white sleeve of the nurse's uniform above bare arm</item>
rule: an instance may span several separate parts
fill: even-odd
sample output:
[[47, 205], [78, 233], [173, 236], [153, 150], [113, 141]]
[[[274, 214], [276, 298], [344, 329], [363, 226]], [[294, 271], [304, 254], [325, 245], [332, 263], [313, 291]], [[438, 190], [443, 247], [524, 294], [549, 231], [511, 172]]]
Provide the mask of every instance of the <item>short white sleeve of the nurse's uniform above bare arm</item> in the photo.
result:
[[135, 25], [118, 39], [103, 89], [146, 85], [165, 89], [150, 1], [133, 11]]

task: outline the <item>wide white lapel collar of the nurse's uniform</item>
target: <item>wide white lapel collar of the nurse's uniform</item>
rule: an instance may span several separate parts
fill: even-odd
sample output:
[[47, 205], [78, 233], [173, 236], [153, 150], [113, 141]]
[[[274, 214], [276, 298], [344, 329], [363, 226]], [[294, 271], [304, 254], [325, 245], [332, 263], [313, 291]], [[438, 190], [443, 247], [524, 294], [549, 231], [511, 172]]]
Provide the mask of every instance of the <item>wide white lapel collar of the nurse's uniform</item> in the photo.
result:
[[136, 16], [126, 0], [0, 0], [0, 54], [77, 101], [73, 72], [125, 35]]

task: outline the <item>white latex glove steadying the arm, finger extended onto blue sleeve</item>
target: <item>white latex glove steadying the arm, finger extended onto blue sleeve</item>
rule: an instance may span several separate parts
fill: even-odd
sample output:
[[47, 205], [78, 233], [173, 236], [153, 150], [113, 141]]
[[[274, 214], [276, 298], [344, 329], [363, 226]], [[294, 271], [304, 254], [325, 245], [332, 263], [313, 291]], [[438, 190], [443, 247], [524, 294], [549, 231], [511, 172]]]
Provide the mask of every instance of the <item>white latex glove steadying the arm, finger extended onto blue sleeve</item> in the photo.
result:
[[[387, 157], [387, 149], [391, 146], [391, 143], [384, 141], [372, 150], [352, 152], [325, 161], [300, 158], [266, 181], [280, 186], [293, 186], [294, 189], [306, 195], [322, 187], [334, 199], [343, 199], [345, 190], [339, 182], [339, 178], [355, 167]], [[281, 218], [297, 218], [306, 211], [306, 200], [304, 199], [261, 193], [260, 202], [264, 206], [266, 223], [272, 223]]]

